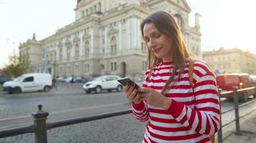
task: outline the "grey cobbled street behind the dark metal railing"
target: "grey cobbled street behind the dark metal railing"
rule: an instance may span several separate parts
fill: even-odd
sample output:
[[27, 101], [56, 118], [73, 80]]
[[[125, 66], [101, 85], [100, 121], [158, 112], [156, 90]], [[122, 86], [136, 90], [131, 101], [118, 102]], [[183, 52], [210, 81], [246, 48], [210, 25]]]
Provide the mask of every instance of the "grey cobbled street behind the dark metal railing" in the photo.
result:
[[[221, 102], [222, 112], [232, 109], [234, 104], [225, 99]], [[250, 99], [252, 100], [252, 98]], [[0, 92], [0, 129], [22, 127], [32, 124], [33, 112], [37, 105], [49, 112], [47, 121], [56, 121], [73, 117], [90, 116], [130, 108], [129, 101], [123, 92], [105, 92], [85, 94], [81, 84], [60, 84], [58, 91], [34, 92], [23, 94], [6, 94]], [[255, 109], [253, 104], [239, 109], [246, 114]], [[16, 119], [16, 117], [19, 117]], [[234, 112], [222, 115], [222, 124], [234, 119]], [[132, 114], [101, 119], [83, 124], [59, 127], [48, 130], [49, 142], [141, 142], [145, 123], [140, 123]], [[23, 134], [16, 137], [0, 139], [0, 142], [34, 142], [34, 134]]]

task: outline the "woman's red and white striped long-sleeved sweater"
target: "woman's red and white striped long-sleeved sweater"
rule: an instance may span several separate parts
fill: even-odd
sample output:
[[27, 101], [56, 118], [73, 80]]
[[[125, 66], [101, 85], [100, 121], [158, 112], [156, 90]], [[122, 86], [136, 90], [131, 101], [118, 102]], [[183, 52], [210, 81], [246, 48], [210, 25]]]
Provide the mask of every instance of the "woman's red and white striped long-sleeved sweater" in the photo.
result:
[[[172, 62], [155, 66], [152, 76], [145, 72], [143, 87], [161, 92], [170, 77]], [[209, 134], [219, 129], [219, 97], [214, 74], [203, 61], [193, 67], [194, 92], [188, 77], [188, 63], [178, 82], [165, 94], [172, 100], [168, 110], [145, 102], [132, 103], [134, 117], [148, 121], [142, 142], [210, 142]]]

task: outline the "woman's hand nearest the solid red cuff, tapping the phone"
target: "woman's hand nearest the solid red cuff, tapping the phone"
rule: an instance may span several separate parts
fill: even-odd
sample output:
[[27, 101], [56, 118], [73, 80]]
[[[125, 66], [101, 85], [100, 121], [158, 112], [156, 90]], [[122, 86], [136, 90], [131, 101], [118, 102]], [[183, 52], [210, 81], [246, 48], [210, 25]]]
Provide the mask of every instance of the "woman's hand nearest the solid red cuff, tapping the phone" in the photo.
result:
[[165, 97], [163, 94], [150, 88], [141, 87], [139, 91], [141, 92], [142, 100], [144, 100], [147, 104], [154, 107], [169, 109], [172, 100], [168, 99], [168, 97]]

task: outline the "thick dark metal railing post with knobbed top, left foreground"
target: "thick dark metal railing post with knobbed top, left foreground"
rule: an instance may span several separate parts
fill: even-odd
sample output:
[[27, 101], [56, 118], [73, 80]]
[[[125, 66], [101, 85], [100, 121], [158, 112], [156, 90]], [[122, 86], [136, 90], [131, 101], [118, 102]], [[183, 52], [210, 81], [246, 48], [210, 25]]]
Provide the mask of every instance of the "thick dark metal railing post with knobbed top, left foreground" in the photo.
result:
[[48, 112], [42, 111], [42, 105], [38, 105], [38, 112], [33, 113], [35, 126], [35, 143], [47, 143], [46, 119]]

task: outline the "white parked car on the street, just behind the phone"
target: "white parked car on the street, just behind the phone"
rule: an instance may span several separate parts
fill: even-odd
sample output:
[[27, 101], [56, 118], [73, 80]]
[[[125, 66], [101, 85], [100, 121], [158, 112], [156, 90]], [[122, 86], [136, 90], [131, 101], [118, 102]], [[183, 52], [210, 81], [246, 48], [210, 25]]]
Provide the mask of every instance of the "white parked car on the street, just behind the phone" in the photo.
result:
[[121, 92], [123, 87], [116, 81], [117, 79], [121, 79], [121, 77], [114, 75], [100, 76], [91, 82], [83, 84], [83, 89], [86, 93], [100, 93], [102, 90], [108, 90], [108, 92], [111, 92], [112, 89], [115, 89], [117, 92]]

